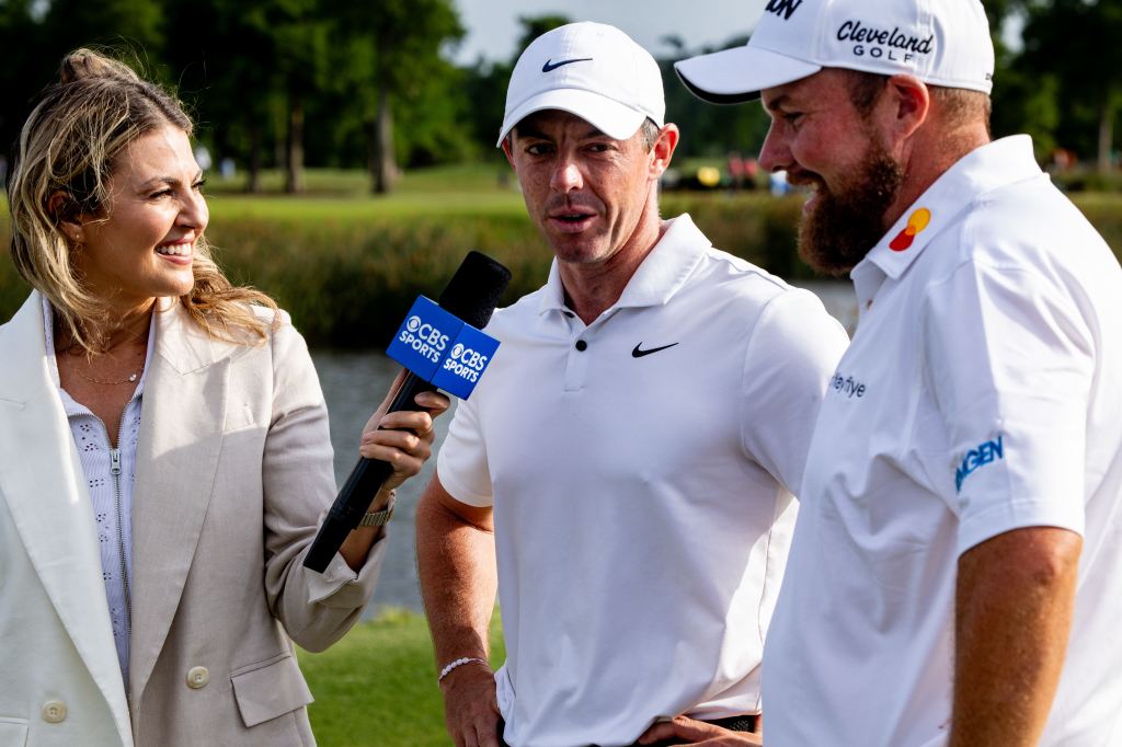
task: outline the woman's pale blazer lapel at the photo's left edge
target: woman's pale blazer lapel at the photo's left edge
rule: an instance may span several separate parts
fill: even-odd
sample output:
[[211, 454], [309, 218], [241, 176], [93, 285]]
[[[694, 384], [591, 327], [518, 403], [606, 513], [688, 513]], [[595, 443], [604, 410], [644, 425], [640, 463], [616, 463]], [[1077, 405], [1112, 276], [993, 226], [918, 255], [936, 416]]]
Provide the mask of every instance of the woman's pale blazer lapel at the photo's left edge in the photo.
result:
[[0, 330], [0, 491], [27, 554], [74, 647], [131, 744], [101, 555], [85, 476], [43, 338], [33, 293]]

